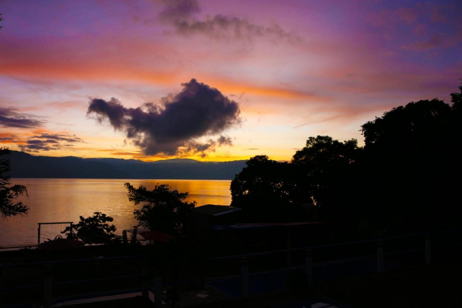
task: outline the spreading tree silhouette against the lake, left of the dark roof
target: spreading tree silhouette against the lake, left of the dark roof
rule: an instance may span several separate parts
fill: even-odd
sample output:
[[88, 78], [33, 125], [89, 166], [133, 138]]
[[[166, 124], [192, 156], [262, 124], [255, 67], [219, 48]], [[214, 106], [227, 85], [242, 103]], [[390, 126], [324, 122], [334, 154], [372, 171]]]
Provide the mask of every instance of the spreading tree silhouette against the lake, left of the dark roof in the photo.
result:
[[182, 232], [188, 215], [196, 204], [195, 201], [184, 201], [188, 197], [187, 192], [170, 191], [170, 186], [165, 184], [156, 184], [152, 191], [148, 191], [143, 185], [138, 188], [130, 183], [124, 185], [128, 190], [128, 200], [135, 205], [147, 203], [133, 212], [140, 226], [167, 234]]

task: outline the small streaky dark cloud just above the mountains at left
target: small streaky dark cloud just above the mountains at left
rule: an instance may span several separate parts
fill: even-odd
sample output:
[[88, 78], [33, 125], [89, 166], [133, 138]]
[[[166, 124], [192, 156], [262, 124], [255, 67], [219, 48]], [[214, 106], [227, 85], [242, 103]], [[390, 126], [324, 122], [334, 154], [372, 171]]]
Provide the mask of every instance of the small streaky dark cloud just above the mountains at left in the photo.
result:
[[84, 141], [75, 135], [36, 133], [27, 138], [22, 144], [18, 144], [18, 146], [24, 152], [37, 152], [39, 150], [61, 150], [73, 147], [73, 143], [82, 142]]

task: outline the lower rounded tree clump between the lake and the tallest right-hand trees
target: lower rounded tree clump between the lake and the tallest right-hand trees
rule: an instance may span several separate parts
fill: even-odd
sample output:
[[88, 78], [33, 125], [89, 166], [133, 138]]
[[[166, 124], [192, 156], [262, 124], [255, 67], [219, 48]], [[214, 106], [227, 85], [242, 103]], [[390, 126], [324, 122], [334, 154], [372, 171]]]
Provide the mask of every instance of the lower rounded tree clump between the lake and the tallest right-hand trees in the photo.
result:
[[[300, 204], [315, 203], [323, 211], [339, 208], [350, 165], [359, 148], [356, 140], [339, 142], [329, 136], [310, 137], [291, 163], [252, 157], [231, 181], [232, 205], [264, 221], [303, 220]], [[283, 207], [283, 208], [282, 208]]]

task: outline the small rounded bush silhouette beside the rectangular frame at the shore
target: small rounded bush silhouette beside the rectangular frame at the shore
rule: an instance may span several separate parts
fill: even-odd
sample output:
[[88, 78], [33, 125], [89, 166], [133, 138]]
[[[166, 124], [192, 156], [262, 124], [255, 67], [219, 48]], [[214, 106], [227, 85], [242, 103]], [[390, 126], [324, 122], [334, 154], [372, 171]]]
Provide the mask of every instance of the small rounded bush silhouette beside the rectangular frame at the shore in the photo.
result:
[[93, 216], [84, 218], [80, 216], [77, 224], [66, 227], [62, 234], [66, 234], [68, 239], [80, 239], [86, 244], [108, 244], [117, 238], [116, 226], [109, 225], [114, 218], [106, 216], [101, 212], [94, 212]]

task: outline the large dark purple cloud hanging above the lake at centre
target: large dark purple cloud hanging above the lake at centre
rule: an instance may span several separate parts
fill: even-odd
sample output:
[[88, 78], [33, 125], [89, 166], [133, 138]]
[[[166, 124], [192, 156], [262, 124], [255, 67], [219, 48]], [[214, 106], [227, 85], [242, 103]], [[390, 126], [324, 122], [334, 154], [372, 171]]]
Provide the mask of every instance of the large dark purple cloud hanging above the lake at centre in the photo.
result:
[[109, 120], [114, 129], [124, 131], [146, 155], [204, 154], [216, 146], [231, 145], [226, 136], [206, 143], [197, 139], [218, 135], [239, 123], [239, 105], [195, 79], [182, 86], [181, 92], [163, 98], [159, 105], [145, 103], [126, 108], [115, 98], [91, 99], [87, 115], [95, 116], [99, 122]]

